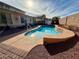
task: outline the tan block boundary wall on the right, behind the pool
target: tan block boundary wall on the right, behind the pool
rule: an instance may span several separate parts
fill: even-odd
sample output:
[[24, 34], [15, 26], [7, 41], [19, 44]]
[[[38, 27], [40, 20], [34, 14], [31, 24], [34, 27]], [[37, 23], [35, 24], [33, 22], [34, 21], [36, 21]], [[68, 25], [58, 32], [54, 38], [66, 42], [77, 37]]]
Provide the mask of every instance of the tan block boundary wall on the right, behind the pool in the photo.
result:
[[[66, 22], [66, 19], [67, 19], [67, 22]], [[73, 26], [79, 27], [79, 13], [61, 18], [59, 20], [59, 23], [64, 25], [66, 24], [66, 25], [73, 25]]]

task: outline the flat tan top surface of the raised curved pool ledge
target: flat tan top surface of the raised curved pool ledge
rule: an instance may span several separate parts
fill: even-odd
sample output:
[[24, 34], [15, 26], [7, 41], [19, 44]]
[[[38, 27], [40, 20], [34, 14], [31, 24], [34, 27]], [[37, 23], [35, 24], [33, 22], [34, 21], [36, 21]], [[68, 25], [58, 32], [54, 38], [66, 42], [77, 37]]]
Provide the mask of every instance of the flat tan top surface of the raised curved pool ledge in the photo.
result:
[[[50, 38], [55, 38], [55, 36], [56, 36], [56, 39], [57, 39], [57, 37], [58, 37], [58, 39], [65, 39], [65, 38], [69, 38], [69, 37], [73, 37], [73, 36], [75, 36], [75, 33], [73, 32], [73, 31], [70, 31], [70, 30], [68, 30], [68, 29], [65, 29], [65, 28], [62, 28], [62, 27], [57, 27], [58, 29], [60, 29], [59, 31], [61, 32], [62, 31], [62, 33], [61, 34], [57, 34], [57, 35], [53, 35], [54, 37], [52, 37], [51, 35], [47, 35], [47, 36], [45, 36], [45, 37], [50, 37]], [[71, 34], [71, 35], [70, 35]], [[63, 35], [63, 36], [62, 36]], [[66, 37], [65, 37], [65, 36]], [[69, 36], [70, 35], [70, 36]], [[63, 37], [63, 38], [62, 38]]]

